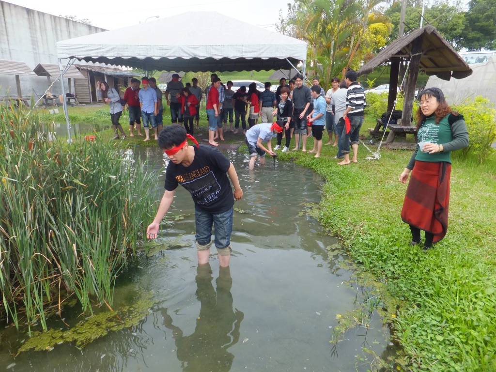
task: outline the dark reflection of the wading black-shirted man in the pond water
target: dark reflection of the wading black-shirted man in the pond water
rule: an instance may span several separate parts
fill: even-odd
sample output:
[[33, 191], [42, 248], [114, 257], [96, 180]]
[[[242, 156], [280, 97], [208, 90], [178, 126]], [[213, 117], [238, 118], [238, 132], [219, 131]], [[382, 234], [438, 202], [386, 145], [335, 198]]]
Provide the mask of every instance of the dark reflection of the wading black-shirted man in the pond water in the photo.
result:
[[194, 332], [185, 336], [173, 324], [173, 318], [162, 309], [163, 325], [172, 330], [176, 341], [177, 358], [183, 371], [230, 371], [234, 355], [228, 349], [240, 339], [241, 321], [245, 314], [233, 310], [231, 287], [233, 279], [229, 267], [220, 267], [219, 276], [212, 285], [210, 264], [198, 265], [196, 299], [201, 303]]

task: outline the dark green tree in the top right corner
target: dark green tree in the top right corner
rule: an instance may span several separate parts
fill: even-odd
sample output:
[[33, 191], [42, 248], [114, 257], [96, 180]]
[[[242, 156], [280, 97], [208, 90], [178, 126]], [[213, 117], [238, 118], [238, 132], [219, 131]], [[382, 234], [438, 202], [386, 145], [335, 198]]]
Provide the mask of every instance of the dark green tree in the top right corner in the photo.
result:
[[466, 31], [460, 46], [469, 50], [496, 49], [496, 0], [471, 0], [465, 19]]

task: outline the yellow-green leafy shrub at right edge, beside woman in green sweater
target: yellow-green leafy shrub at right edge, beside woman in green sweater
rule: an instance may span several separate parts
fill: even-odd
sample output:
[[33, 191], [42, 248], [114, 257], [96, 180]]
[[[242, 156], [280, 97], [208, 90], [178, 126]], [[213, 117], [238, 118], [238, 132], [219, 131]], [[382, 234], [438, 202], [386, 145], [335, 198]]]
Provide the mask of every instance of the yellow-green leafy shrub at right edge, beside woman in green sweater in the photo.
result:
[[473, 153], [480, 163], [494, 151], [491, 145], [496, 142], [496, 109], [494, 104], [484, 98], [477, 96], [468, 99], [460, 105], [451, 106], [465, 117], [467, 124], [469, 145], [463, 149], [463, 153]]

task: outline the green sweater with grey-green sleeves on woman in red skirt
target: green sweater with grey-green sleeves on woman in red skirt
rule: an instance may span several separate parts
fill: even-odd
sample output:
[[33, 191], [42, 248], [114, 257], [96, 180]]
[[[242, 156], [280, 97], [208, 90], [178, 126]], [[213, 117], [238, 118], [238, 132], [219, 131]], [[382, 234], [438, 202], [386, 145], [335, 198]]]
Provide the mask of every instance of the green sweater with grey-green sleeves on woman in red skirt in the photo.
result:
[[448, 162], [451, 163], [451, 151], [459, 150], [468, 146], [468, 131], [463, 115], [448, 114], [435, 124], [435, 116], [426, 118], [417, 132], [419, 142], [429, 142], [442, 145], [443, 151], [429, 154], [419, 151], [419, 145], [415, 148], [407, 169], [412, 170], [415, 161], [423, 162]]

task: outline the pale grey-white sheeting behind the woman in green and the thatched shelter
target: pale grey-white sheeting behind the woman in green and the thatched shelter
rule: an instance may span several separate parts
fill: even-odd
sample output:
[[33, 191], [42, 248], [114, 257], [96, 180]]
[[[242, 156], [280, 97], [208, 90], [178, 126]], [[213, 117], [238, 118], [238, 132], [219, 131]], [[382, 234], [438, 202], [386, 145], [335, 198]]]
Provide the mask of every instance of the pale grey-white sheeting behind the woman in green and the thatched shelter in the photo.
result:
[[457, 105], [467, 98], [484, 96], [496, 104], [496, 57], [487, 62], [470, 65], [472, 75], [463, 79], [441, 80], [431, 76], [426, 88], [437, 87], [442, 90], [450, 105]]

